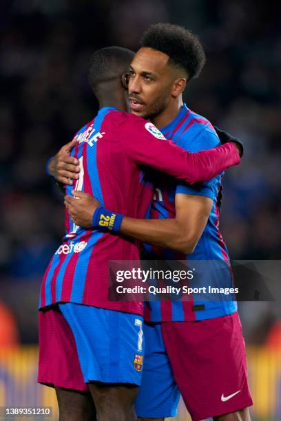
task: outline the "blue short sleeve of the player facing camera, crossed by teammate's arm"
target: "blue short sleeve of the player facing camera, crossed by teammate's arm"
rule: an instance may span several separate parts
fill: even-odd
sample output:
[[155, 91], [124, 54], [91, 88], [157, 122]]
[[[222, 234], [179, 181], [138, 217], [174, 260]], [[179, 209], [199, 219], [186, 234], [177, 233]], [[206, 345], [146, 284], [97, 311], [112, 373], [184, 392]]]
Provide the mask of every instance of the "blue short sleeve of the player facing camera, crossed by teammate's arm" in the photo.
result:
[[[220, 140], [218, 136], [209, 131], [204, 131], [202, 134], [196, 136], [194, 142], [191, 142], [191, 144], [189, 142], [186, 144], [183, 143], [182, 146], [188, 151], [197, 152], [202, 151], [203, 149], [209, 149], [211, 147], [215, 148], [219, 144]], [[179, 183], [176, 186], [176, 194], [183, 193], [186, 195], [205, 196], [214, 201], [218, 195], [218, 186], [220, 186], [221, 176], [222, 174], [216, 175], [216, 177], [212, 178], [211, 180], [199, 184], [191, 185]]]

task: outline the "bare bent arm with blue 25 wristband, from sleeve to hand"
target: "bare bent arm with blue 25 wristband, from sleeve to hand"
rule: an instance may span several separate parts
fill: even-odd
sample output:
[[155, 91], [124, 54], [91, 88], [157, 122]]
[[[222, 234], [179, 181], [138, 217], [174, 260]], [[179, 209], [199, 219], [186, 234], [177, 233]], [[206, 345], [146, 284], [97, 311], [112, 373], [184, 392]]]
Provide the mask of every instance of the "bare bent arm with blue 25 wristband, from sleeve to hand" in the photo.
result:
[[[75, 192], [75, 195], [79, 197], [79, 200], [65, 196], [65, 206], [75, 224], [79, 226], [92, 228], [94, 224], [96, 228], [108, 229], [108, 225], [99, 226], [98, 222], [104, 224], [107, 217], [108, 221], [110, 221], [112, 215], [115, 215], [114, 219], [121, 216], [114, 213], [107, 215], [107, 210], [105, 209], [100, 214], [98, 212], [98, 209], [101, 208], [100, 203], [94, 197], [82, 192]], [[213, 200], [210, 197], [177, 193], [176, 217], [174, 219], [122, 217], [118, 230], [112, 230], [143, 243], [190, 254], [196, 247], [207, 224], [212, 205]], [[96, 222], [94, 222], [93, 215], [96, 210], [103, 217], [96, 219]]]

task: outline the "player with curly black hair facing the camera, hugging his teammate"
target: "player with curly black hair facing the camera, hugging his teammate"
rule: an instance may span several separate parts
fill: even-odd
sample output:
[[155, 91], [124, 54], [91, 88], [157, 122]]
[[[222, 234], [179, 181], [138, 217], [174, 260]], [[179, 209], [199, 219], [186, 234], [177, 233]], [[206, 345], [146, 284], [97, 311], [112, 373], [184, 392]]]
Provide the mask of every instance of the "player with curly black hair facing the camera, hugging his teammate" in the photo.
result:
[[[143, 35], [129, 74], [129, 98], [136, 116], [149, 118], [175, 144], [188, 151], [216, 147], [210, 122], [182, 101], [187, 81], [204, 62], [193, 34], [167, 23]], [[229, 261], [218, 228], [221, 175], [190, 185], [155, 177], [152, 219], [123, 217], [120, 235], [146, 245], [149, 259]], [[74, 220], [92, 226], [99, 204], [87, 195], [65, 198]], [[93, 221], [95, 218], [93, 219]], [[96, 225], [94, 225], [96, 226]], [[183, 252], [175, 254], [172, 250]], [[206, 279], [206, 284], [209, 279]], [[231, 287], [222, 271], [216, 286]], [[176, 415], [180, 393], [193, 421], [249, 421], [252, 400], [247, 382], [244, 340], [235, 301], [152, 301], [145, 308], [145, 367], [136, 412], [143, 420]]]

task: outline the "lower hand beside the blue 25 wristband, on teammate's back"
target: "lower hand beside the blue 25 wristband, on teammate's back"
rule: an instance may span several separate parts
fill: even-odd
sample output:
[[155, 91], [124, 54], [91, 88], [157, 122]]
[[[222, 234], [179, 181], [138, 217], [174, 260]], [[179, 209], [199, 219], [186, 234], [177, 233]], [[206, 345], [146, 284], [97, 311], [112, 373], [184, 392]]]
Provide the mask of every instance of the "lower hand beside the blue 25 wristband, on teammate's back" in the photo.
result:
[[92, 219], [96, 208], [101, 206], [100, 202], [87, 193], [72, 190], [74, 197], [66, 195], [64, 198], [67, 208], [74, 224], [83, 228], [92, 228]]

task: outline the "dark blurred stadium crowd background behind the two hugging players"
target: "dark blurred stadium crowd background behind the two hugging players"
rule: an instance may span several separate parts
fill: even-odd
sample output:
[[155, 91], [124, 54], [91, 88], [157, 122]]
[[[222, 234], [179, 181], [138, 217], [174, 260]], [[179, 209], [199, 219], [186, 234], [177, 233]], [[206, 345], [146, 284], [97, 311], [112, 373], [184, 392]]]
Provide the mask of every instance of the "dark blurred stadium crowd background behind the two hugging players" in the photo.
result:
[[[62, 197], [45, 161], [96, 112], [86, 78], [91, 52], [136, 50], [158, 21], [200, 35], [207, 65], [188, 85], [187, 105], [244, 142], [243, 162], [224, 182], [220, 224], [231, 257], [281, 258], [278, 2], [1, 1], [0, 407], [56, 411], [50, 389], [36, 385], [34, 345], [41, 275], [63, 233]], [[253, 420], [281, 420], [280, 301], [242, 303], [240, 315]], [[182, 406], [178, 420], [187, 419]]]

